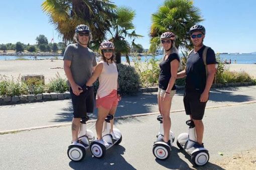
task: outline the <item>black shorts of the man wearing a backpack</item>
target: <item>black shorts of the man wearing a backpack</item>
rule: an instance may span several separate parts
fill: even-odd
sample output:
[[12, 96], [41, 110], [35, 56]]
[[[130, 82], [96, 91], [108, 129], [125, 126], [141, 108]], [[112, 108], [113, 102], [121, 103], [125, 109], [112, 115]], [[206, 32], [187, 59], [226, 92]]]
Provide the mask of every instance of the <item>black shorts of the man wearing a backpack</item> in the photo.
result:
[[183, 97], [186, 114], [191, 114], [195, 120], [201, 120], [203, 118], [207, 102], [201, 102], [200, 96], [200, 91], [185, 91]]

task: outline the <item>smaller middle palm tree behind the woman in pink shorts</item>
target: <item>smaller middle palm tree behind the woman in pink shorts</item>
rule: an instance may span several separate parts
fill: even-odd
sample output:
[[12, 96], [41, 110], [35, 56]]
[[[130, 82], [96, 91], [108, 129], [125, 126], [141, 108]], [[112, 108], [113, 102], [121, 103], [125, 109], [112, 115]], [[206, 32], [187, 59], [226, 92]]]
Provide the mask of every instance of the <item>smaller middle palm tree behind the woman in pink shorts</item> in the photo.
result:
[[[136, 15], [135, 10], [130, 7], [120, 6], [115, 10], [116, 17], [111, 21], [111, 29], [109, 30], [110, 40], [115, 46], [115, 57], [116, 63], [121, 62], [121, 54], [125, 54], [127, 62], [130, 63], [128, 54], [131, 46], [137, 46], [135, 39], [143, 37], [142, 35], [136, 34], [133, 19]], [[132, 30], [132, 32], [130, 32]], [[133, 38], [130, 45], [129, 41], [125, 38]]]

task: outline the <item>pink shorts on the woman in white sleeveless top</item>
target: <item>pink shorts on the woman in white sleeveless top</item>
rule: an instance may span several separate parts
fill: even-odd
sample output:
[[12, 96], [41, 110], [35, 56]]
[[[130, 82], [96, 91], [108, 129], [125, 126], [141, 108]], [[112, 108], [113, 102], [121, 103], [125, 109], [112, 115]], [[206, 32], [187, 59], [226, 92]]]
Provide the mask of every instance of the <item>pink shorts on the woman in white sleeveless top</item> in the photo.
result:
[[96, 107], [102, 106], [106, 109], [111, 109], [113, 106], [117, 106], [118, 98], [117, 98], [117, 91], [113, 89], [110, 94], [96, 99]]

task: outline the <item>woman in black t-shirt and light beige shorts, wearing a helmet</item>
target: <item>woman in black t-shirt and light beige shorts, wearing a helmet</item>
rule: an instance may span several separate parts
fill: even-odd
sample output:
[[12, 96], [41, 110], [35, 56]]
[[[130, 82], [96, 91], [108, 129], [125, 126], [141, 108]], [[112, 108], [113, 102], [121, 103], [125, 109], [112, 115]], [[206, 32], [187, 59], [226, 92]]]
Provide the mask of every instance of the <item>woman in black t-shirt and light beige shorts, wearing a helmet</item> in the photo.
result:
[[160, 75], [158, 79], [158, 108], [163, 116], [164, 142], [171, 146], [169, 133], [171, 129], [170, 109], [172, 98], [176, 92], [175, 80], [179, 68], [180, 58], [175, 47], [176, 35], [173, 32], [164, 32], [161, 35], [165, 55], [160, 62]]

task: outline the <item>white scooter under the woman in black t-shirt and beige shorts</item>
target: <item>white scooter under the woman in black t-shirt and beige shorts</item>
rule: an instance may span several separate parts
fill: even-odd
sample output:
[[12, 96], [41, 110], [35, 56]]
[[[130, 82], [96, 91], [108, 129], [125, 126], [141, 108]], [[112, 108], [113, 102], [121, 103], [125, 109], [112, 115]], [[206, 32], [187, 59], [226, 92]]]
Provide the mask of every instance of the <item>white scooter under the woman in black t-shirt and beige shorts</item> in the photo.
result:
[[[157, 141], [154, 142], [153, 145], [153, 154], [158, 159], [167, 159], [171, 154], [171, 147], [163, 141], [164, 138], [164, 127], [163, 127], [163, 117], [162, 115], [157, 116], [157, 120], [160, 121], [159, 124], [159, 133], [157, 135]], [[173, 146], [174, 142], [174, 133], [170, 130], [169, 139], [171, 142], [171, 146]]]

